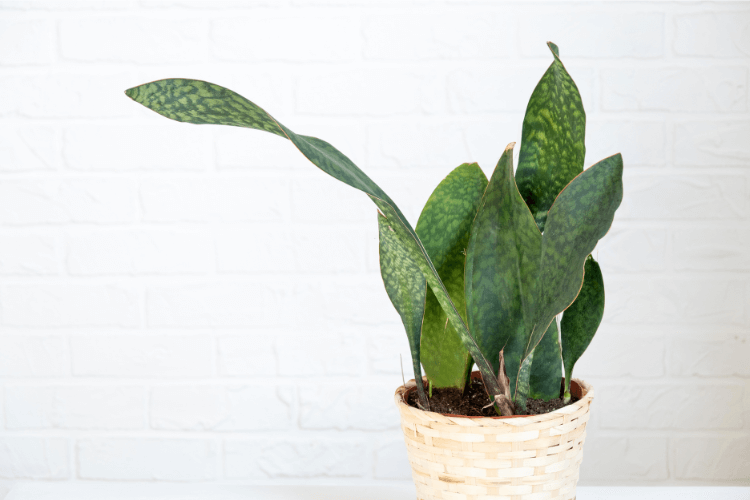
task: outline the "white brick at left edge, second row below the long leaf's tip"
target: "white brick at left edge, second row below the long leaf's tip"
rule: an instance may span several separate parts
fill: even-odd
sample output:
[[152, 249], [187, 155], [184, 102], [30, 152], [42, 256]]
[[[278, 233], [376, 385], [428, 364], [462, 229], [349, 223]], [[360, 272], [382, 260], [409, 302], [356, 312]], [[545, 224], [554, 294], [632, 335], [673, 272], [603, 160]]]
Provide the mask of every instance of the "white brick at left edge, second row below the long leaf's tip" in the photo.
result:
[[132, 222], [135, 200], [135, 184], [124, 179], [3, 181], [0, 224]]

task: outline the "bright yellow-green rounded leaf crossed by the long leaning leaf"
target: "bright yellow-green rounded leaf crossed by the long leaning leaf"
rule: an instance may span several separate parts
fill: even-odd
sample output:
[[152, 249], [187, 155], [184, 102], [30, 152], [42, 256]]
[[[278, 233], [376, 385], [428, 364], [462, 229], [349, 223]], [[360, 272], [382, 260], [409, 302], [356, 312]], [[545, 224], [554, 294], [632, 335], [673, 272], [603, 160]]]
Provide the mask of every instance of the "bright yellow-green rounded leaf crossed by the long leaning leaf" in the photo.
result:
[[[464, 321], [466, 246], [486, 187], [487, 176], [479, 165], [464, 163], [456, 167], [435, 188], [417, 222], [417, 235]], [[421, 356], [434, 387], [464, 389], [474, 360], [432, 290], [427, 290]]]

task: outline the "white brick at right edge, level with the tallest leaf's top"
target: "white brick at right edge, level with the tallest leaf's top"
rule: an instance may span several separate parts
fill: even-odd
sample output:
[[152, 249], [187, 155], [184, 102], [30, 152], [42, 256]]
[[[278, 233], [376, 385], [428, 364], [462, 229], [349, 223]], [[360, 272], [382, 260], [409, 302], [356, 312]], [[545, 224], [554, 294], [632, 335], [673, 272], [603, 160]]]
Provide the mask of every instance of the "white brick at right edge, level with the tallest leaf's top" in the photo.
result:
[[747, 110], [747, 69], [701, 67], [601, 70], [606, 111]]

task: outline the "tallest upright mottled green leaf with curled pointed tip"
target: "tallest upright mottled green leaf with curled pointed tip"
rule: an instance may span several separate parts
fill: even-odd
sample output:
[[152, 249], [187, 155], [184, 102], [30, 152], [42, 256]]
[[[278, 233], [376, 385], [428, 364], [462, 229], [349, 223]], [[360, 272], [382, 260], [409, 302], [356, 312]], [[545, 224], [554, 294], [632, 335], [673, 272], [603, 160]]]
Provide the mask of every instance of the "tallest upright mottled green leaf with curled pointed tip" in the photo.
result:
[[555, 59], [531, 94], [521, 133], [516, 182], [521, 196], [544, 230], [547, 211], [557, 194], [583, 171], [586, 113], [575, 82]]

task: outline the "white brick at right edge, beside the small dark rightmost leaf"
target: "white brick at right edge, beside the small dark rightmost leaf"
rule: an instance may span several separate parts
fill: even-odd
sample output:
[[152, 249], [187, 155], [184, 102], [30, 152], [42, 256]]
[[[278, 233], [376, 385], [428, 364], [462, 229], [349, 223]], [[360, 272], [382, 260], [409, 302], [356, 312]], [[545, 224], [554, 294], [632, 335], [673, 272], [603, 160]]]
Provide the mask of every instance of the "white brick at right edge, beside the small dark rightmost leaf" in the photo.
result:
[[605, 279], [605, 321], [630, 325], [745, 324], [747, 298], [741, 279]]

